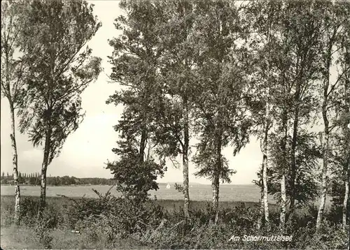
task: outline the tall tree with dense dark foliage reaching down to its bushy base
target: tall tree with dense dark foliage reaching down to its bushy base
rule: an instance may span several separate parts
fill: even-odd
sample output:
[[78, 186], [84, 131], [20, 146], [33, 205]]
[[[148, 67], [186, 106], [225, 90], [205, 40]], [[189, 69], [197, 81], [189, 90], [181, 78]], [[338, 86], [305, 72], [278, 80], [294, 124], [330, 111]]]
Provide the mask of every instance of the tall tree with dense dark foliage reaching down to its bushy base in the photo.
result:
[[[158, 67], [163, 52], [159, 36], [165, 15], [161, 2], [122, 1], [126, 15], [116, 19], [116, 29], [123, 31], [113, 38], [111, 79], [122, 86], [107, 100], [123, 104], [123, 116], [114, 127], [122, 140], [113, 152], [120, 161], [108, 163], [118, 181], [117, 187], [129, 197], [144, 201], [150, 189], [158, 189], [157, 175], [162, 175], [164, 162], [146, 158], [146, 149], [155, 139], [155, 117], [162, 107], [162, 84], [158, 81]], [[118, 175], [130, 172], [129, 176]], [[135, 176], [136, 175], [136, 176]], [[125, 187], [126, 186], [126, 187]]]

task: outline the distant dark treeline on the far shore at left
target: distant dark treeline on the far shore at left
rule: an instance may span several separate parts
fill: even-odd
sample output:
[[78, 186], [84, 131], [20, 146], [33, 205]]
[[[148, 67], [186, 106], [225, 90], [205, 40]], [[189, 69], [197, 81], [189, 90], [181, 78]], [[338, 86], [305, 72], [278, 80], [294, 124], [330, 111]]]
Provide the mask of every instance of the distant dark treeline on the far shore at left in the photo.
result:
[[[39, 185], [40, 184], [40, 173], [33, 172], [30, 174], [27, 173], [18, 173], [18, 182], [20, 184], [29, 184], [29, 185]], [[64, 185], [112, 185], [112, 179], [106, 178], [77, 178], [77, 177], [47, 177], [46, 182], [50, 186], [64, 186]], [[13, 184], [13, 175], [8, 175], [8, 172], [5, 175], [5, 172], [2, 172], [1, 175], [1, 184]]]

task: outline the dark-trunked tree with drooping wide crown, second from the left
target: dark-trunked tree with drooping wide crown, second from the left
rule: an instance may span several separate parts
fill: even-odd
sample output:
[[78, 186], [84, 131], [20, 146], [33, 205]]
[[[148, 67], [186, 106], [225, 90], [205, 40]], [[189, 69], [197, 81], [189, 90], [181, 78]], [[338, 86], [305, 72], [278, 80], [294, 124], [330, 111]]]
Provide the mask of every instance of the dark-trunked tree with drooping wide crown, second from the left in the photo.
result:
[[83, 120], [80, 94], [96, 80], [101, 59], [86, 46], [101, 23], [86, 1], [29, 1], [21, 32], [28, 62], [26, 110], [20, 128], [35, 147], [43, 146], [41, 216], [45, 207], [46, 172], [66, 138]]

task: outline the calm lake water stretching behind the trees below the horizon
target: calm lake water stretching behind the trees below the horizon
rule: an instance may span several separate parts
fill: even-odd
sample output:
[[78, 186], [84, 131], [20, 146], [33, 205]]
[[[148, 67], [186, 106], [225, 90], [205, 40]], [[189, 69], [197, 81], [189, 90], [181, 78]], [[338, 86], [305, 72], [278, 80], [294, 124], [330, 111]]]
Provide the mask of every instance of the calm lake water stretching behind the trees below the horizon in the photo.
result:
[[[97, 198], [92, 191], [96, 189], [100, 193], [106, 193], [111, 186], [48, 186], [46, 196], [64, 195], [69, 197]], [[15, 187], [1, 185], [1, 196], [14, 195]], [[118, 196], [115, 188], [111, 190], [113, 195]], [[151, 191], [151, 196], [157, 196], [161, 200], [182, 200], [183, 194], [174, 189], [166, 189], [164, 185], [160, 186], [158, 191]], [[40, 196], [40, 186], [21, 186], [22, 196]], [[190, 186], [191, 200], [211, 200], [211, 185], [193, 184]], [[221, 185], [220, 201], [242, 201], [242, 202], [258, 202], [260, 199], [260, 189], [254, 185]], [[275, 203], [272, 196], [269, 196], [269, 203]]]

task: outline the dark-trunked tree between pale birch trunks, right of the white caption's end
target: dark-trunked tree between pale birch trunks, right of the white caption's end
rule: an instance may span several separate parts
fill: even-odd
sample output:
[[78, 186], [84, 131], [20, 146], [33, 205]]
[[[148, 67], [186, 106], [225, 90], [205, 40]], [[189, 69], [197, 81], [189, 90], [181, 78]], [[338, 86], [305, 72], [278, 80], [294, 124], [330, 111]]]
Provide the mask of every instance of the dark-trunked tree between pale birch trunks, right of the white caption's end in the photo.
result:
[[[293, 52], [293, 125], [290, 142], [290, 214], [295, 211], [295, 201], [298, 196], [297, 175], [302, 174], [298, 169], [297, 147], [302, 139], [302, 126], [311, 122], [315, 115], [316, 98], [311, 92], [311, 86], [317, 78], [319, 61], [318, 41], [321, 33], [321, 23], [314, 1], [286, 3], [286, 17], [283, 24], [284, 36], [292, 45]], [[309, 132], [304, 130], [304, 135]], [[311, 139], [311, 138], [310, 138]]]

